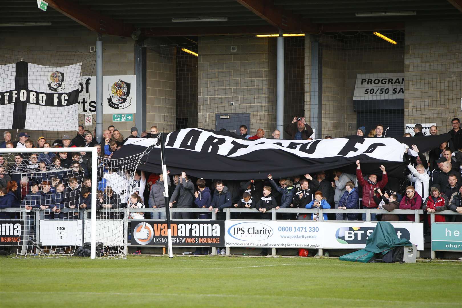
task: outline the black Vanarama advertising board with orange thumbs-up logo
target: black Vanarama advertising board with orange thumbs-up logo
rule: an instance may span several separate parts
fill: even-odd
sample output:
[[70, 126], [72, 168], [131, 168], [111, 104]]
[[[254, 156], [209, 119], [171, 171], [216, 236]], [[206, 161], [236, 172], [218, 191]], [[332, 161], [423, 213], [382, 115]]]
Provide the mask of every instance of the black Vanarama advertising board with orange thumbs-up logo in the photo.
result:
[[[173, 246], [215, 246], [224, 247], [224, 221], [182, 220], [172, 221]], [[167, 223], [139, 220], [131, 223], [131, 245], [167, 245]]]

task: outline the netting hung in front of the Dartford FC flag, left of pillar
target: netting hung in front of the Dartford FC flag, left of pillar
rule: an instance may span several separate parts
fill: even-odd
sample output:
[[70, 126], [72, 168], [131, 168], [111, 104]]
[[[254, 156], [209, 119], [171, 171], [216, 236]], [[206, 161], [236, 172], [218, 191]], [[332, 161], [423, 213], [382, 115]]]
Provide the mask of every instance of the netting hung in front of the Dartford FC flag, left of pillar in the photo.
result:
[[27, 132], [35, 146], [39, 137], [50, 144], [64, 135], [73, 139], [79, 124], [93, 133], [96, 102], [87, 79], [95, 59], [94, 52], [0, 49], [0, 133], [7, 130], [16, 141]]

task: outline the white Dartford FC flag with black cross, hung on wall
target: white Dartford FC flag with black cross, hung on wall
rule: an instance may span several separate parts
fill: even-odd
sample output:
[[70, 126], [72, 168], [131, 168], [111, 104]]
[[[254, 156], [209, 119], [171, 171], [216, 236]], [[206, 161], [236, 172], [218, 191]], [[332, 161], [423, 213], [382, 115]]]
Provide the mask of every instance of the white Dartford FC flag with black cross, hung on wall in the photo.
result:
[[0, 66], [0, 129], [77, 130], [81, 63]]

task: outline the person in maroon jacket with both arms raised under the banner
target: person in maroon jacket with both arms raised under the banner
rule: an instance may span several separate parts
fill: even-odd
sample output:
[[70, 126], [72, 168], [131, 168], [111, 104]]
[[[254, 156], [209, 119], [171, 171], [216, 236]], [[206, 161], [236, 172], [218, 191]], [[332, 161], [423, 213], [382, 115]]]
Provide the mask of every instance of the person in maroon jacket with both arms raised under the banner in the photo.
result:
[[[368, 209], [377, 209], [378, 205], [374, 200], [374, 195], [377, 198], [380, 198], [380, 194], [377, 192], [377, 188], [383, 188], [388, 183], [388, 176], [387, 172], [385, 171], [385, 166], [380, 165], [380, 170], [382, 170], [382, 181], [377, 182], [377, 175], [370, 174], [368, 179], [365, 180], [363, 178], [363, 173], [361, 172], [360, 161], [356, 161], [356, 176], [358, 177], [358, 184], [363, 187], [363, 201], [362, 201], [362, 208]], [[363, 220], [366, 220], [366, 213], [363, 213]], [[371, 220], [377, 220], [376, 214], [371, 214]]]

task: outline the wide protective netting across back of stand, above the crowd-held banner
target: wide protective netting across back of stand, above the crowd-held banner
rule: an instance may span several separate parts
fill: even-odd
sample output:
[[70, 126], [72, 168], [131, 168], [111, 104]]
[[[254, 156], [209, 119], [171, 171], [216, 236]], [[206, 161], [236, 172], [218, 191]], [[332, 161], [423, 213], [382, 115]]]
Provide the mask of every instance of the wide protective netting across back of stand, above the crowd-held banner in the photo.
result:
[[[388, 137], [413, 135], [417, 123], [425, 134], [431, 125], [439, 133], [450, 130], [462, 95], [460, 44], [442, 38], [441, 47], [428, 47], [413, 44], [404, 31], [380, 34], [396, 44], [371, 31], [284, 38], [281, 138], [291, 138], [294, 117], [311, 125], [312, 138], [356, 134], [359, 127], [368, 135], [377, 124]], [[438, 46], [438, 37], [432, 39]], [[148, 49], [152, 59], [160, 59], [154, 67], [175, 72], [163, 75], [175, 91], [157, 101], [164, 131], [201, 127], [239, 133], [245, 125], [250, 136], [261, 128], [266, 138], [273, 137], [276, 38], [199, 36], [197, 43]]]

